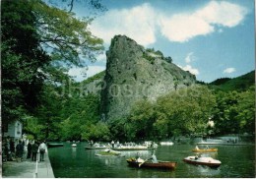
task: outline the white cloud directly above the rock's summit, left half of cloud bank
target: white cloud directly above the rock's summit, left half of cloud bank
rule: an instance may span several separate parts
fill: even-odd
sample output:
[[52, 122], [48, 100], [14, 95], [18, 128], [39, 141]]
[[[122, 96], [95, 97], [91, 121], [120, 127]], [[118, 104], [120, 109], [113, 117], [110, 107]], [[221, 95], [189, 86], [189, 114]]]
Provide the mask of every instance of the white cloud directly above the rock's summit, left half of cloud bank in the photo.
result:
[[142, 45], [149, 45], [156, 41], [155, 15], [148, 3], [132, 9], [110, 10], [92, 23], [91, 30], [106, 43], [115, 34], [125, 34]]

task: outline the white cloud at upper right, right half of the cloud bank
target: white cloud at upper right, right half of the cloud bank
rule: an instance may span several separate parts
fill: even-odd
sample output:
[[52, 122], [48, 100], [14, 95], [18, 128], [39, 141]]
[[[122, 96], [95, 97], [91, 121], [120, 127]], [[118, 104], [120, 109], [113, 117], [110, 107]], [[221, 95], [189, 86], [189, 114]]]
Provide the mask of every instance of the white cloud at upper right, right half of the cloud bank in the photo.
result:
[[242, 22], [247, 10], [236, 4], [212, 1], [202, 9], [188, 14], [160, 18], [162, 35], [170, 41], [184, 42], [198, 35], [216, 31], [216, 25], [232, 28]]

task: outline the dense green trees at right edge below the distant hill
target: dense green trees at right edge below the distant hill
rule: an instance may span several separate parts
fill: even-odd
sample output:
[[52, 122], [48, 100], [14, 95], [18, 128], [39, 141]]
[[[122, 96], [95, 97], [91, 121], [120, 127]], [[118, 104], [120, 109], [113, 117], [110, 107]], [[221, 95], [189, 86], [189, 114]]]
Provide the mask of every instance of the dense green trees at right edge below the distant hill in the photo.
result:
[[254, 133], [254, 87], [245, 91], [218, 91], [214, 114], [216, 134]]

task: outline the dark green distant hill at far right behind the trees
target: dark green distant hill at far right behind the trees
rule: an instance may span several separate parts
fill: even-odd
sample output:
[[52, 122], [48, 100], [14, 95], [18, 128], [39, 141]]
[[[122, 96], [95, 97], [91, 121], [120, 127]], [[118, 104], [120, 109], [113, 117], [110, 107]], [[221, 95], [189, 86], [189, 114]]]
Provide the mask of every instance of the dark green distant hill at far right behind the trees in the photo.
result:
[[213, 89], [227, 90], [245, 90], [255, 85], [255, 71], [251, 71], [245, 75], [229, 79], [218, 79], [209, 84]]

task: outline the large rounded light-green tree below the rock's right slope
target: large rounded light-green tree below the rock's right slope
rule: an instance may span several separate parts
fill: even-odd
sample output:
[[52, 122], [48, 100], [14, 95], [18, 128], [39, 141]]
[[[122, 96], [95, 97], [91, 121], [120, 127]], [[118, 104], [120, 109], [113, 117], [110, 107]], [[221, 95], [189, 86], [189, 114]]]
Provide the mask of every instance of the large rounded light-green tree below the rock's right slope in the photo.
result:
[[215, 106], [210, 89], [194, 86], [178, 89], [158, 98], [155, 126], [162, 137], [180, 134], [205, 134]]

